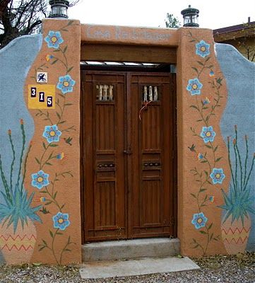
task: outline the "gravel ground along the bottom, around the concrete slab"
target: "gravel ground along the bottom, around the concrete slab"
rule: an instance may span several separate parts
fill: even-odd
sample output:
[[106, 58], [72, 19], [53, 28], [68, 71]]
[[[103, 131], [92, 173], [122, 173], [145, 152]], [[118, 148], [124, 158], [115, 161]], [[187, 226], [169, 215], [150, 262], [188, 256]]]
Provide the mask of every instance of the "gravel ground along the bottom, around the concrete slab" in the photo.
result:
[[21, 265], [8, 267], [0, 265], [1, 283], [102, 283], [102, 282], [255, 282], [255, 253], [232, 256], [212, 256], [192, 258], [201, 270], [188, 272], [161, 273], [135, 277], [109, 279], [81, 279], [77, 265], [65, 267], [49, 267], [45, 265]]

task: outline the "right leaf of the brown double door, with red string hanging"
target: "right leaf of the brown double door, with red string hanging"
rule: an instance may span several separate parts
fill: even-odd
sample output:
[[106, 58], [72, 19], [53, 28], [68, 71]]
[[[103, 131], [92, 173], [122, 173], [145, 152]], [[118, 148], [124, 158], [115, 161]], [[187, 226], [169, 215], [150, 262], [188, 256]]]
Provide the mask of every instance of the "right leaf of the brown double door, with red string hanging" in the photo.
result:
[[174, 236], [174, 76], [129, 74], [129, 237]]

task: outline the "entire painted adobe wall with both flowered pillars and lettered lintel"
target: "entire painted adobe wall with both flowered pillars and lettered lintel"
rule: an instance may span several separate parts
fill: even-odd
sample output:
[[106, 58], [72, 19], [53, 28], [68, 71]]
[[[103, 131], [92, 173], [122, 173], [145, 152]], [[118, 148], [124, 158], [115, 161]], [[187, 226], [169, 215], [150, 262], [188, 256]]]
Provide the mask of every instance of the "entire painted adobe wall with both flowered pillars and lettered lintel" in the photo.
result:
[[81, 42], [177, 47], [182, 254], [254, 250], [254, 64], [207, 29], [47, 19], [0, 51], [0, 262], [81, 262]]

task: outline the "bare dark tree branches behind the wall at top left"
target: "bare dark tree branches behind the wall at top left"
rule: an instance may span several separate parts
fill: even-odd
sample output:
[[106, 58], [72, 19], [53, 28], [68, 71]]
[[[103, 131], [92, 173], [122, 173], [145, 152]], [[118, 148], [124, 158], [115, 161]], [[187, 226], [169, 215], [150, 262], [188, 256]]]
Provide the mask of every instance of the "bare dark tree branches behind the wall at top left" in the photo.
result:
[[[70, 1], [69, 6], [78, 1]], [[48, 4], [48, 0], [0, 0], [0, 48], [20, 35], [37, 33]]]

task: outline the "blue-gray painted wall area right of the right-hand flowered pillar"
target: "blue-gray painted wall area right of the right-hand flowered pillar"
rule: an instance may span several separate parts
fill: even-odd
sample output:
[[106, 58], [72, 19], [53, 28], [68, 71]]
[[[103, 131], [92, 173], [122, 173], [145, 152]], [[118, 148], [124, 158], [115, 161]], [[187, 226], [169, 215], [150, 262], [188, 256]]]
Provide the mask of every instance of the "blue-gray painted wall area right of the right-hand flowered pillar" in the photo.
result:
[[[243, 162], [246, 155], [244, 136], [247, 135], [249, 143], [247, 168], [250, 168], [255, 152], [255, 64], [244, 58], [232, 45], [216, 44], [215, 52], [227, 81], [228, 91], [227, 105], [220, 123], [221, 132], [227, 143], [227, 137], [231, 140], [235, 138], [235, 125], [237, 125], [239, 151]], [[233, 151], [231, 158], [235, 160]], [[254, 179], [255, 170], [251, 173], [248, 185], [251, 188], [252, 209], [255, 212]], [[251, 216], [251, 232], [247, 250], [255, 250], [255, 215], [251, 213], [249, 215]]]

